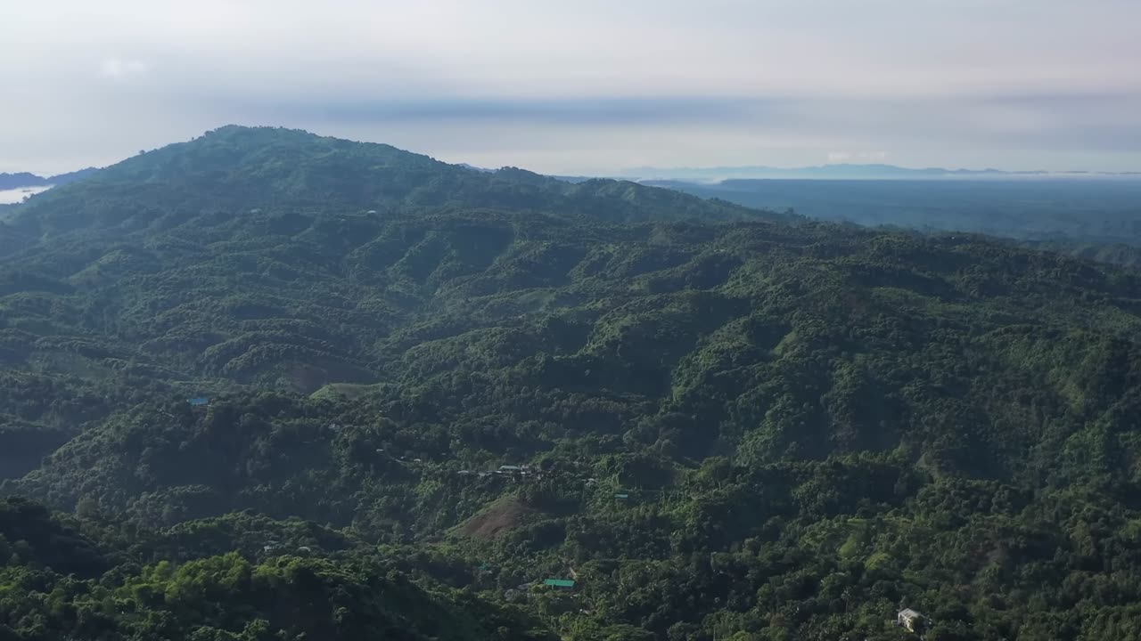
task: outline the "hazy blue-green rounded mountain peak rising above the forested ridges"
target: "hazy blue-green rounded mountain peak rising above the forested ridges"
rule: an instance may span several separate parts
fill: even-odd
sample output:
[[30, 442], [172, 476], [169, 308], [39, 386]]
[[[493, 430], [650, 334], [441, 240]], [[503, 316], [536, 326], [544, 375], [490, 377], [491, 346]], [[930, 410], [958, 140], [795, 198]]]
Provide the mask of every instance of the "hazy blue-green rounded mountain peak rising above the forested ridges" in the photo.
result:
[[[207, 209], [245, 212], [283, 206], [386, 212], [486, 206], [609, 220], [764, 216], [634, 182], [570, 185], [515, 168], [487, 173], [388, 145], [273, 128], [221, 128], [65, 187], [32, 198], [9, 214], [9, 224], [22, 232], [54, 235], [81, 228], [177, 225]], [[175, 201], [177, 210], [163, 211], [165, 219], [155, 218]]]

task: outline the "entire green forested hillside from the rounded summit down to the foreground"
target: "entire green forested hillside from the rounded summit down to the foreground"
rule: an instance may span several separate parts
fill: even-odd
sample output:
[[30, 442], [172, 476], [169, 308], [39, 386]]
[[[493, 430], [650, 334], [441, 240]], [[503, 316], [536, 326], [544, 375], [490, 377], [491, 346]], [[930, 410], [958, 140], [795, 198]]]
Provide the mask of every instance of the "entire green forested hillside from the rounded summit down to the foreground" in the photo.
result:
[[1141, 273], [245, 128], [0, 254], [0, 639], [1141, 638]]

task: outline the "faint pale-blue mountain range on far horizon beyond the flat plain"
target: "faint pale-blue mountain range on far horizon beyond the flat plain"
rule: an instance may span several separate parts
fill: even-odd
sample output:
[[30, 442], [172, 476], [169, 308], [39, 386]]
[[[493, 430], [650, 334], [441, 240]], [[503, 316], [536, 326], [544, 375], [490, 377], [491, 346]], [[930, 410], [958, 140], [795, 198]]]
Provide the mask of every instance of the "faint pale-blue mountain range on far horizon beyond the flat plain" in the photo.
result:
[[1026, 178], [1026, 177], [1141, 177], [1141, 172], [1109, 173], [1095, 171], [1002, 171], [997, 169], [912, 169], [891, 164], [824, 164], [817, 167], [710, 167], [656, 168], [639, 167], [621, 172], [622, 178], [637, 180], [687, 180], [718, 182], [741, 178], [784, 178], [826, 180], [917, 180], [933, 178]]

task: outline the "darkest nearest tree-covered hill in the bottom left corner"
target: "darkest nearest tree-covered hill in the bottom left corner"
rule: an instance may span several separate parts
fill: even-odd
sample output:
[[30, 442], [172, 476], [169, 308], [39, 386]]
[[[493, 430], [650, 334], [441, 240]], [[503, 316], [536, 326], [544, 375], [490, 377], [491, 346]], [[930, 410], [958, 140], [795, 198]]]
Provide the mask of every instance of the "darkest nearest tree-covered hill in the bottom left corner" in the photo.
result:
[[[102, 574], [110, 562], [91, 541], [42, 506], [7, 500], [0, 502], [0, 551], [6, 557], [0, 566], [0, 635], [551, 639], [528, 632], [523, 616], [462, 595], [424, 591], [378, 562], [311, 558], [307, 550], [261, 562], [238, 552], [141, 567], [127, 561]], [[515, 632], [507, 635], [500, 632], [511, 628]]]

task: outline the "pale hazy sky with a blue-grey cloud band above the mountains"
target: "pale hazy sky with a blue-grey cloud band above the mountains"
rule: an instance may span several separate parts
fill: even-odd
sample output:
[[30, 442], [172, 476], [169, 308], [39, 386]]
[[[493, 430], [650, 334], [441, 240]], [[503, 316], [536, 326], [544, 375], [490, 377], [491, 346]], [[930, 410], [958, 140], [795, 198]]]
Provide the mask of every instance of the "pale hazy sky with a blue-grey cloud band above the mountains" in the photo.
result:
[[1141, 171], [1141, 0], [0, 0], [0, 171], [221, 124], [556, 173]]

